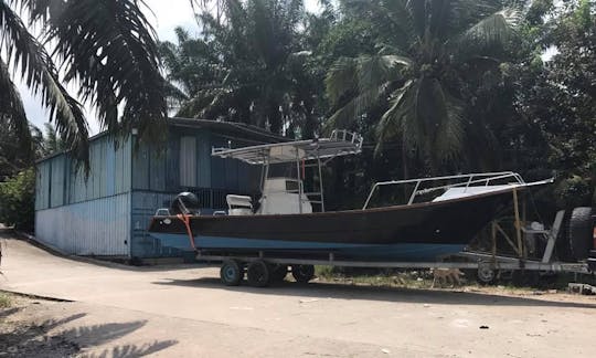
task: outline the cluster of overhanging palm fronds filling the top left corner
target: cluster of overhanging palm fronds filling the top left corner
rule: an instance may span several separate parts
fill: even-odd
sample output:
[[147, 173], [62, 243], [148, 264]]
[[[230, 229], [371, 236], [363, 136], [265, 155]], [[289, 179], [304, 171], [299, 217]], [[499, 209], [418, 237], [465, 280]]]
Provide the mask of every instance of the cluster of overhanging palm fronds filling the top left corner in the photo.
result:
[[[42, 101], [81, 162], [88, 158], [87, 122], [65, 84], [79, 88], [77, 96], [114, 134], [136, 128], [148, 139], [163, 133], [156, 34], [140, 6], [142, 0], [0, 0], [0, 116], [25, 150], [31, 134], [12, 74]], [[35, 27], [40, 38], [29, 31]]]

